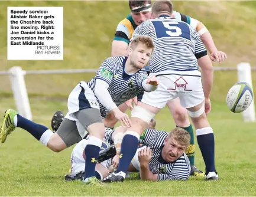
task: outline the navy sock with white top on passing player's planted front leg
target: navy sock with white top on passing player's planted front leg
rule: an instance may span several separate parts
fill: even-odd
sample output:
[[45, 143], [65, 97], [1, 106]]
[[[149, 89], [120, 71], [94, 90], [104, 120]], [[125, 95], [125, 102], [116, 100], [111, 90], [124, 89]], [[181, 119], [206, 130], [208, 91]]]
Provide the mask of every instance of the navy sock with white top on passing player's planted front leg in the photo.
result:
[[85, 147], [85, 179], [95, 175], [95, 166], [98, 163], [99, 150], [101, 149], [102, 140], [98, 137], [90, 136]]

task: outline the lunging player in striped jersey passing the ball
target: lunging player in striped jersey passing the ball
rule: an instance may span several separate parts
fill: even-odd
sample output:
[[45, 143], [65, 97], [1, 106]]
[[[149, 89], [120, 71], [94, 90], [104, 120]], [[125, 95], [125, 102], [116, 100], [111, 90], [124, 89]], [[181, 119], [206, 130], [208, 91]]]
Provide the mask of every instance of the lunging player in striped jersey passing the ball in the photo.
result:
[[70, 93], [67, 101], [69, 112], [56, 133], [25, 119], [15, 110], [7, 110], [1, 127], [1, 143], [16, 127], [20, 127], [54, 152], [60, 152], [89, 133], [88, 145], [85, 147], [88, 159], [84, 182], [99, 183], [95, 178], [95, 161], [105, 134], [102, 117], [112, 111], [122, 125], [130, 126], [128, 115], [117, 106], [144, 90], [153, 91], [157, 88], [155, 77], [148, 77], [144, 69], [153, 50], [153, 40], [141, 36], [131, 42], [128, 57], [110, 57], [103, 61], [92, 80], [88, 83], [81, 81]]

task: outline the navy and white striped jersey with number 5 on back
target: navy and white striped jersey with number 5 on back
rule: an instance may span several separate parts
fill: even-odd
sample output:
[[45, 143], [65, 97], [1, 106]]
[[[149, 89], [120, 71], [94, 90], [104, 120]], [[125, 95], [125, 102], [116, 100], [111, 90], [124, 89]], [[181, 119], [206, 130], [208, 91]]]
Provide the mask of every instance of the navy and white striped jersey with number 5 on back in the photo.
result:
[[207, 55], [195, 29], [166, 15], [143, 22], [135, 29], [131, 40], [138, 35], [153, 38], [155, 50], [148, 62], [151, 73], [197, 70], [197, 58]]

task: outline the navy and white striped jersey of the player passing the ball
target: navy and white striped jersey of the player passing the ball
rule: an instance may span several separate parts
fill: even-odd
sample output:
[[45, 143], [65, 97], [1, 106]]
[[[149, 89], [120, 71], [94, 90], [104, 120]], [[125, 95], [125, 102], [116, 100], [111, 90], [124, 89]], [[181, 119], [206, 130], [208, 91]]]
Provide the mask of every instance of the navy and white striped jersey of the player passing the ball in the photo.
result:
[[[96, 76], [88, 82], [88, 86], [94, 93], [96, 79], [106, 81], [109, 84], [109, 94], [116, 106], [142, 93], [144, 91], [142, 81], [148, 76], [144, 68], [135, 74], [127, 74], [125, 71], [126, 61], [126, 56], [107, 58], [99, 67]], [[106, 117], [109, 111], [99, 102], [97, 97], [96, 99], [99, 103], [102, 117]]]

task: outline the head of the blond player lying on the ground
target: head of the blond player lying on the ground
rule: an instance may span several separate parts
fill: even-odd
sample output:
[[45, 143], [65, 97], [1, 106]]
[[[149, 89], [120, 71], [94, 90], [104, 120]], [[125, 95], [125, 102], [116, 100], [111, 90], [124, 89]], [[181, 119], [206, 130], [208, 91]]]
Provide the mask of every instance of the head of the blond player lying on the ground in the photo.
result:
[[166, 137], [162, 150], [163, 159], [174, 162], [185, 152], [190, 143], [189, 133], [182, 128], [175, 128]]

